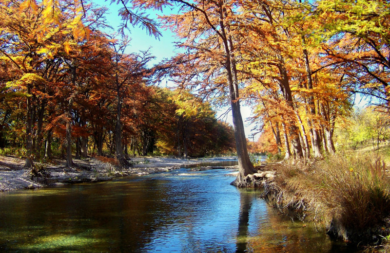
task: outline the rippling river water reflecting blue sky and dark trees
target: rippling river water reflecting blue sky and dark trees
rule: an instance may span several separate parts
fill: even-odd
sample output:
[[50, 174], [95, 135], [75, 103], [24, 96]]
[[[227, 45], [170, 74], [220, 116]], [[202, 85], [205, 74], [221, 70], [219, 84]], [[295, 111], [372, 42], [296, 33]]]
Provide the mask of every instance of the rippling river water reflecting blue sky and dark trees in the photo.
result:
[[0, 193], [0, 252], [356, 252], [231, 186], [233, 172], [182, 168]]

